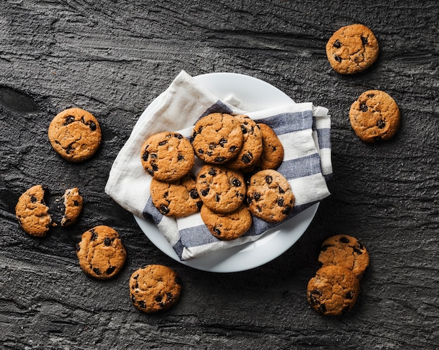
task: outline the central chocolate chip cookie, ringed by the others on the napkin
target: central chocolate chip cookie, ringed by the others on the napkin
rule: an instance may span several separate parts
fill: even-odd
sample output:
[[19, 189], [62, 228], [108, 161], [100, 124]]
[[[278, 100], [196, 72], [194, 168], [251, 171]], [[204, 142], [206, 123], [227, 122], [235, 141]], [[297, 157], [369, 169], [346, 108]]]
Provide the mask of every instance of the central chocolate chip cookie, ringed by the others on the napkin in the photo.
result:
[[245, 179], [241, 172], [221, 165], [204, 165], [196, 176], [198, 194], [210, 210], [229, 213], [245, 198]]

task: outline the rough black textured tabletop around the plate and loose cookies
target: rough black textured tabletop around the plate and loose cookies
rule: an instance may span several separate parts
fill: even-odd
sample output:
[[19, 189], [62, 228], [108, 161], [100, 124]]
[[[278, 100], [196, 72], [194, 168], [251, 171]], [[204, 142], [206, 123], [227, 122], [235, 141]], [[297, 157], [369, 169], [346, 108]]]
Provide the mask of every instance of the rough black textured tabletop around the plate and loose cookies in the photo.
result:
[[[438, 349], [439, 5], [431, 1], [3, 0], [0, 6], [0, 346], [4, 349]], [[379, 59], [356, 76], [330, 69], [325, 43], [362, 22]], [[107, 195], [109, 169], [135, 121], [180, 70], [255, 76], [332, 114], [332, 195], [301, 239], [266, 265], [215, 274], [175, 262]], [[349, 107], [370, 89], [402, 113], [392, 141], [353, 134]], [[79, 106], [104, 132], [92, 159], [72, 164], [47, 139], [50, 120]], [[44, 239], [15, 219], [19, 195], [42, 183], [79, 186], [81, 221]], [[115, 279], [79, 268], [74, 243], [94, 225], [128, 251]], [[319, 316], [306, 302], [325, 237], [346, 233], [370, 251], [356, 307]], [[147, 315], [128, 298], [143, 265], [175, 269], [178, 304]]]

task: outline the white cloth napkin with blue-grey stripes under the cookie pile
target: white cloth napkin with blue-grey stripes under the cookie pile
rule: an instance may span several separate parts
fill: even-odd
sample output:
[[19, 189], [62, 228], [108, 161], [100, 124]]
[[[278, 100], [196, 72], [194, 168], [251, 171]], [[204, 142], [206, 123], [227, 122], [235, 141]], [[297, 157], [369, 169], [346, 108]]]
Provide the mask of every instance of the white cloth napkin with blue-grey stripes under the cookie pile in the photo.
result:
[[[241, 105], [235, 97], [227, 98]], [[332, 174], [330, 115], [327, 109], [311, 102], [278, 106], [263, 111], [246, 112], [227, 101], [220, 101], [185, 71], [180, 72], [162, 94], [142, 113], [128, 141], [114, 160], [105, 192], [135, 216], [152, 218], [180, 260], [188, 260], [255, 241], [276, 226], [253, 217], [252, 227], [233, 241], [220, 241], [210, 234], [199, 213], [185, 218], [163, 216], [151, 202], [151, 176], [142, 168], [140, 149], [151, 134], [180, 132], [191, 138], [196, 121], [209, 113], [245, 114], [257, 123], [273, 128], [285, 149], [282, 165], [277, 169], [288, 179], [295, 195], [290, 216], [330, 195], [326, 179]], [[196, 175], [202, 162], [196, 158]]]

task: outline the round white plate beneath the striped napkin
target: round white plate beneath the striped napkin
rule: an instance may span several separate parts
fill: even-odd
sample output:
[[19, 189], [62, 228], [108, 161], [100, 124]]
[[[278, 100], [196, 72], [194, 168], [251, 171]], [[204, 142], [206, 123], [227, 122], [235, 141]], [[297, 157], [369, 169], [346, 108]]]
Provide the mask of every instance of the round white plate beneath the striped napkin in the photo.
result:
[[[195, 78], [219, 99], [226, 99], [233, 94], [243, 102], [248, 111], [258, 111], [293, 102], [278, 88], [251, 76], [236, 73], [208, 73]], [[155, 100], [151, 102], [147, 110], [154, 106], [154, 102]], [[285, 253], [304, 234], [317, 209], [318, 204], [314, 204], [276, 228], [264, 232], [257, 241], [187, 261], [180, 261], [152, 221], [137, 216], [135, 220], [149, 240], [170, 258], [203, 271], [239, 272], [264, 265]]]

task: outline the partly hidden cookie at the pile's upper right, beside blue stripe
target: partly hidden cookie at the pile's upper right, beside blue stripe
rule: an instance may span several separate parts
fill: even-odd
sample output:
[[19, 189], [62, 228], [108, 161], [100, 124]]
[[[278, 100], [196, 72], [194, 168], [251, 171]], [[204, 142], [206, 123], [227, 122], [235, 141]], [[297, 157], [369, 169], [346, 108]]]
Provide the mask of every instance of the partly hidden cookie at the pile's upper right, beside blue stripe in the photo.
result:
[[262, 155], [257, 162], [259, 169], [277, 169], [283, 162], [283, 145], [269, 125], [259, 123], [262, 133]]

